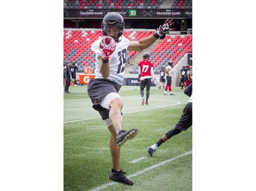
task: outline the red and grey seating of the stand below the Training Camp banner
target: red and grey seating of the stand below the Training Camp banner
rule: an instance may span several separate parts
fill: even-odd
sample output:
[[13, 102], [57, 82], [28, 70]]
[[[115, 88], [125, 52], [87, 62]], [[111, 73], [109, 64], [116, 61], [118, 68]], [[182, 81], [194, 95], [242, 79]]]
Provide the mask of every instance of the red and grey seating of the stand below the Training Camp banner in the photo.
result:
[[[137, 41], [143, 37], [153, 34], [154, 30], [148, 31], [124, 31], [124, 37]], [[84, 67], [95, 69], [95, 54], [90, 46], [96, 39], [102, 37], [101, 29], [64, 29], [63, 31], [63, 61], [76, 63], [79, 72], [83, 72]], [[192, 52], [192, 35], [167, 35], [165, 39], [150, 50], [150, 61], [154, 64], [154, 72], [159, 73], [160, 67], [166, 67], [169, 60], [173, 61], [173, 66], [186, 54]], [[128, 62], [138, 52], [128, 52]], [[137, 63], [130, 69], [129, 73], [138, 73]]]

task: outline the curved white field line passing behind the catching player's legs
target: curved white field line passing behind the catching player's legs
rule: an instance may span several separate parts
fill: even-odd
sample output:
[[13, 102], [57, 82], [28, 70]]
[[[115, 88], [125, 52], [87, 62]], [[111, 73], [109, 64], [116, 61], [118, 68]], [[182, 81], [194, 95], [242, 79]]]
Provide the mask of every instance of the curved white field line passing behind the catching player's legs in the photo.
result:
[[[158, 101], [166, 101], [166, 100], [158, 100]], [[124, 114], [133, 114], [133, 113], [136, 113], [136, 112], [141, 112], [141, 111], [148, 111], [148, 110], [152, 110], [152, 109], [160, 109], [160, 108], [164, 108], [164, 107], [170, 107], [170, 106], [175, 106], [175, 105], [180, 105], [182, 104], [180, 101], [173, 101], [173, 100], [168, 100], [168, 101], [171, 101], [171, 102], [174, 102], [173, 104], [169, 104], [169, 105], [156, 105], [156, 106], [150, 106], [150, 107], [126, 107], [126, 109], [124, 109], [123, 113]], [[136, 111], [125, 111], [127, 109], [130, 109], [130, 108], [140, 108], [139, 110], [136, 110]], [[142, 109], [143, 108], [143, 109]], [[81, 122], [81, 121], [85, 121], [85, 120], [93, 120], [93, 119], [96, 119], [96, 118], [100, 118], [100, 115], [98, 116], [94, 116], [94, 117], [91, 117], [91, 118], [83, 118], [83, 119], [79, 119], [79, 120], [71, 120], [71, 121], [66, 121], [66, 122], [63, 122], [63, 124], [68, 124], [68, 123], [71, 123], [71, 122]]]

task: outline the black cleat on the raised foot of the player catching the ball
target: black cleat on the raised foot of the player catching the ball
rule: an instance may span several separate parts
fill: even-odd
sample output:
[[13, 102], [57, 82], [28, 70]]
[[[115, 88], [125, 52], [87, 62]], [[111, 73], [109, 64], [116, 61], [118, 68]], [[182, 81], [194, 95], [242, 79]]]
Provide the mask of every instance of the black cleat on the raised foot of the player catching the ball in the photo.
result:
[[139, 133], [139, 130], [137, 128], [132, 128], [130, 131], [127, 131], [127, 132], [124, 130], [121, 130], [119, 131], [117, 136], [115, 136], [115, 144], [121, 147], [122, 145], [124, 145], [124, 143], [128, 139], [134, 138], [138, 133]]

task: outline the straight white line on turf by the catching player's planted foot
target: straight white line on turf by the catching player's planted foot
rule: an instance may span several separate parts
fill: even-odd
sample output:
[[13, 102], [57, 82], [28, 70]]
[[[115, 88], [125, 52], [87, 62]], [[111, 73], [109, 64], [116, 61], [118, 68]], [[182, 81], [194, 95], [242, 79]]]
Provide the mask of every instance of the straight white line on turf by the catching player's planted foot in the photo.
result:
[[[164, 165], [164, 164], [166, 164], [166, 163], [168, 163], [168, 162], [171, 162], [171, 161], [173, 161], [173, 160], [176, 160], [176, 159], [182, 158], [182, 157], [184, 157], [184, 156], [187, 156], [188, 154], [192, 154], [192, 151], [185, 152], [184, 154], [180, 154], [180, 155], [175, 156], [175, 157], [173, 157], [173, 158], [169, 158], [169, 159], [167, 159], [167, 160], [164, 160], [164, 161], [162, 161], [162, 162], [159, 162], [158, 164], [154, 164], [154, 165], [152, 165], [151, 167], [147, 167], [146, 169], [143, 169], [143, 170], [141, 170], [141, 171], [137, 171], [136, 173], [133, 173], [132, 175], [128, 175], [127, 178], [135, 177], [135, 176], [140, 175], [140, 174], [142, 174], [142, 173], [145, 173], [145, 172], [147, 172], [147, 171], [151, 171], [152, 169], [155, 169], [155, 168], [157, 168], [157, 167], [160, 167], [160, 166], [162, 166], [162, 165]], [[89, 191], [98, 191], [98, 190], [102, 190], [102, 189], [104, 189], [104, 188], [106, 188], [106, 187], [112, 186], [113, 184], [117, 184], [117, 183], [116, 183], [116, 182], [109, 182], [108, 184], [102, 184], [101, 186], [98, 186], [98, 187], [96, 187], [96, 188], [93, 188], [93, 189], [91, 189], [91, 190], [89, 190]]]

